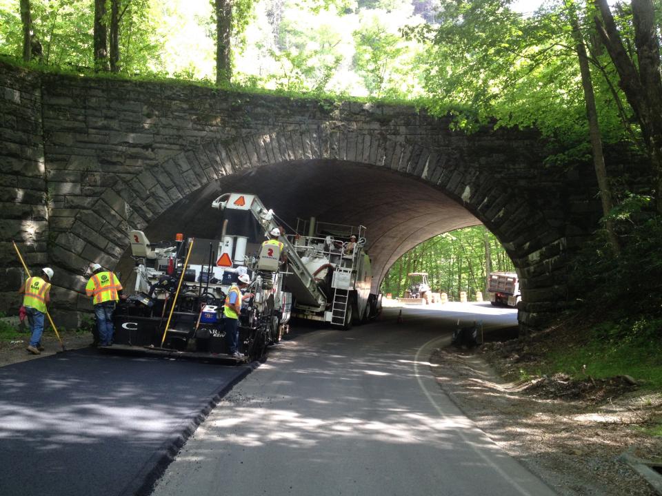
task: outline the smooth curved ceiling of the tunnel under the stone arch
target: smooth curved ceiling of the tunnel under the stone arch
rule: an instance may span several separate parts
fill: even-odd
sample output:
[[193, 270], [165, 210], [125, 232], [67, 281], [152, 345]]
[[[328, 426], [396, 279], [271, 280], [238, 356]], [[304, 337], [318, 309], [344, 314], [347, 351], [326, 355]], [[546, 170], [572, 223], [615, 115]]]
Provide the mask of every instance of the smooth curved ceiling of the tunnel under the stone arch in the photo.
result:
[[[220, 194], [257, 194], [288, 225], [297, 218], [364, 225], [372, 258], [373, 291], [389, 267], [419, 243], [454, 229], [481, 224], [470, 211], [428, 183], [398, 172], [334, 160], [265, 165], [209, 183], [163, 212], [146, 229], [152, 241], [221, 238]], [[288, 230], [289, 231], [289, 230]]]

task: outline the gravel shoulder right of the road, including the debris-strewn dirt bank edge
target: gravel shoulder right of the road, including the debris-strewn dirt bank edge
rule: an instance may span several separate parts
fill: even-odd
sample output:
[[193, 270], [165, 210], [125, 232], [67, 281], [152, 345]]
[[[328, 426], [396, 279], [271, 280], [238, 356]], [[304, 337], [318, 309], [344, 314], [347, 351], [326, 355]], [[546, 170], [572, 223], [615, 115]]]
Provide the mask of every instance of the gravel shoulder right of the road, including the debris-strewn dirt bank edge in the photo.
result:
[[439, 349], [432, 371], [479, 428], [560, 495], [658, 494], [621, 455], [662, 459], [661, 438], [643, 432], [660, 418], [662, 395], [640, 393], [625, 378], [512, 380], [521, 347]]

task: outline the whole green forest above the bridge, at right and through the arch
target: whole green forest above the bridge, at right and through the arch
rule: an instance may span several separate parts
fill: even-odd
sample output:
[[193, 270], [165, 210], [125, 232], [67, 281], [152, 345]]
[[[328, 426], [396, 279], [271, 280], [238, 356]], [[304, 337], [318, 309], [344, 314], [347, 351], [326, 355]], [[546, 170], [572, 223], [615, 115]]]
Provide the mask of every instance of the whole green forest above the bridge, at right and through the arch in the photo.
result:
[[[536, 127], [544, 167], [596, 173], [603, 222], [572, 273], [585, 297], [642, 264], [653, 280], [662, 265], [661, 10], [660, 0], [552, 0], [534, 11], [509, 0], [0, 0], [0, 54], [81, 76], [405, 102], [468, 133]], [[623, 150], [643, 172], [608, 170]], [[498, 240], [471, 227], [405, 254], [382, 290], [402, 294], [408, 271], [428, 271], [434, 291], [458, 298], [484, 291], [490, 267], [513, 269]]]

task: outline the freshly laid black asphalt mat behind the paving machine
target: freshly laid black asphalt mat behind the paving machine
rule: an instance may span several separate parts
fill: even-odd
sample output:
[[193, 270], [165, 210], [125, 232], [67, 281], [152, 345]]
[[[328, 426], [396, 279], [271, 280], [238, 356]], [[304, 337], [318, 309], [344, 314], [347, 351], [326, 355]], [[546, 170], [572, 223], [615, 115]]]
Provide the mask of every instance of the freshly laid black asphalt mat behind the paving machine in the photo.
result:
[[0, 495], [149, 493], [215, 401], [251, 371], [66, 351], [0, 369]]

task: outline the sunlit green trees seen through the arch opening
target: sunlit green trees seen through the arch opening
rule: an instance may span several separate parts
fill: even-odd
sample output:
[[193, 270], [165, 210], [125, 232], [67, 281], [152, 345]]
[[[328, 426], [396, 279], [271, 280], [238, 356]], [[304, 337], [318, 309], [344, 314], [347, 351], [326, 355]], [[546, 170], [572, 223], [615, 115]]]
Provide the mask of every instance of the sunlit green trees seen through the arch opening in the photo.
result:
[[483, 226], [467, 227], [434, 236], [401, 256], [386, 273], [381, 292], [403, 296], [407, 274], [427, 272], [435, 293], [448, 293], [455, 300], [459, 300], [460, 291], [467, 291], [471, 297], [476, 291], [485, 295], [485, 238], [490, 245], [491, 270], [514, 271], [512, 261], [492, 233]]

